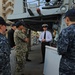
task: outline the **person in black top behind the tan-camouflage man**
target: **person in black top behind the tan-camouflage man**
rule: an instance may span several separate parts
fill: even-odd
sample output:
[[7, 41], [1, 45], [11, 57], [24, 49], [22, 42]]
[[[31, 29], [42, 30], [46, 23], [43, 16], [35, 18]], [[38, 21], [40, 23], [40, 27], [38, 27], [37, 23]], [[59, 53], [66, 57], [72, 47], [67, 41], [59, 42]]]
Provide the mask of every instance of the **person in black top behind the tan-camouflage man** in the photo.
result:
[[13, 49], [15, 47], [14, 42], [14, 31], [16, 30], [16, 24], [12, 24], [11, 29], [8, 31], [8, 40], [11, 48]]

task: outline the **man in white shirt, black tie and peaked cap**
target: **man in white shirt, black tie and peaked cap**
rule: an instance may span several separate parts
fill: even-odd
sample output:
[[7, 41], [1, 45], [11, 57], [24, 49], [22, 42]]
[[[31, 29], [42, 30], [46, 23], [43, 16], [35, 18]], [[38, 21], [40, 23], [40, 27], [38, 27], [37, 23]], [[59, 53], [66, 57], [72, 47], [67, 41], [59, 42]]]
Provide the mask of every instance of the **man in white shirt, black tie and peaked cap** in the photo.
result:
[[52, 40], [52, 35], [51, 33], [47, 30], [48, 25], [43, 24], [43, 32], [40, 34], [39, 41], [41, 42], [41, 51], [42, 51], [42, 62], [44, 63], [44, 58], [45, 58], [45, 46], [50, 45], [50, 41]]

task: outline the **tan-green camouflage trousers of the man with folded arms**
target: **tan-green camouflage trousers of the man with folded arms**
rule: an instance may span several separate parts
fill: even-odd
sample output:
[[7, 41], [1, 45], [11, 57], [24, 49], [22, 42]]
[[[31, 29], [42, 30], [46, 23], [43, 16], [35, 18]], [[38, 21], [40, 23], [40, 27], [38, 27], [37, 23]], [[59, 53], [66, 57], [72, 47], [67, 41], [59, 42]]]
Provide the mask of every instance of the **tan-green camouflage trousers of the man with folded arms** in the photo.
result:
[[24, 73], [24, 66], [25, 66], [25, 63], [26, 63], [25, 55], [26, 55], [26, 53], [24, 53], [20, 50], [16, 51], [16, 71], [15, 71], [15, 75], [21, 75], [22, 73]]

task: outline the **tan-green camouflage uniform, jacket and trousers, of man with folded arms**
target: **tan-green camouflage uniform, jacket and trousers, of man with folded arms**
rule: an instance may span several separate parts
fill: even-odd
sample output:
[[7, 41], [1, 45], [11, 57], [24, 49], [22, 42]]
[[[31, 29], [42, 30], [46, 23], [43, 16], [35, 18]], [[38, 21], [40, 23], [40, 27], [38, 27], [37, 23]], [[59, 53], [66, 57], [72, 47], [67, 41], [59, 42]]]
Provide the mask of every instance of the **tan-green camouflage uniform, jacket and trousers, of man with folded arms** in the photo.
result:
[[24, 41], [25, 34], [21, 30], [16, 29], [14, 33], [15, 50], [16, 50], [16, 74], [23, 73], [25, 64], [25, 54], [27, 51], [27, 43]]

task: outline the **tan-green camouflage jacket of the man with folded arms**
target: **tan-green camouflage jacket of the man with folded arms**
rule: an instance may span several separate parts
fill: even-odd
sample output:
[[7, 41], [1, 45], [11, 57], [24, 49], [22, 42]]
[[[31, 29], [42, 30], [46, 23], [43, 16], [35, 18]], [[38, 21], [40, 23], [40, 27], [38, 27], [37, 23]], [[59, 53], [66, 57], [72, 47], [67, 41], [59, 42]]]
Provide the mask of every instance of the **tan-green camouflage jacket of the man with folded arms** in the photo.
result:
[[27, 36], [21, 31], [16, 29], [14, 32], [14, 42], [16, 45], [16, 50], [20, 50], [23, 52], [26, 52], [27, 49], [27, 42], [24, 41], [24, 39], [27, 38]]

